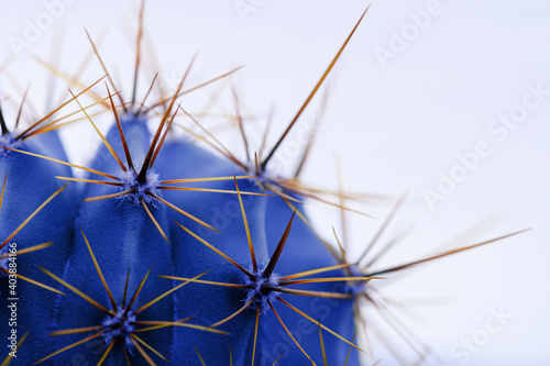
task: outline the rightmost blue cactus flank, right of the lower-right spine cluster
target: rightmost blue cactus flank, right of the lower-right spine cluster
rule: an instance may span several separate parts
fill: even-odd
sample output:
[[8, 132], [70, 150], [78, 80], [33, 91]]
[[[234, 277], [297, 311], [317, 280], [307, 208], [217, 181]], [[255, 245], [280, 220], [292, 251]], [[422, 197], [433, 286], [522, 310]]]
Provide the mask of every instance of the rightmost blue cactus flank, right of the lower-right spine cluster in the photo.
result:
[[[266, 212], [266, 222], [270, 223], [265, 228], [267, 246], [270, 253], [273, 253], [280, 239], [280, 228], [286, 225], [293, 210], [277, 197], [267, 201]], [[316, 268], [336, 266], [338, 264], [332, 254], [316, 237], [311, 230], [301, 220], [295, 219], [287, 244], [277, 264], [277, 271], [280, 275], [292, 275]], [[337, 269], [307, 278], [327, 277], [345, 277], [345, 274], [342, 269]], [[344, 282], [305, 284], [295, 286], [295, 288], [340, 293], [348, 291]], [[352, 340], [354, 333], [353, 300], [285, 295], [283, 295], [283, 298], [316, 321], [320, 321], [322, 325], [331, 329], [346, 340]], [[314, 362], [322, 365], [318, 325], [283, 304], [277, 306], [277, 312], [287, 324], [292, 324], [290, 330], [296, 340], [299, 340], [298, 342]], [[277, 318], [271, 312], [266, 314], [261, 323], [260, 340], [261, 350], [263, 351], [262, 365], [272, 365], [283, 351], [285, 353], [280, 357], [280, 362], [292, 361], [295, 365], [311, 365], [288, 334], [283, 331]], [[328, 364], [343, 364], [350, 346], [326, 331], [323, 331], [323, 340]], [[356, 364], [358, 352], [356, 350], [352, 350], [349, 365]]]

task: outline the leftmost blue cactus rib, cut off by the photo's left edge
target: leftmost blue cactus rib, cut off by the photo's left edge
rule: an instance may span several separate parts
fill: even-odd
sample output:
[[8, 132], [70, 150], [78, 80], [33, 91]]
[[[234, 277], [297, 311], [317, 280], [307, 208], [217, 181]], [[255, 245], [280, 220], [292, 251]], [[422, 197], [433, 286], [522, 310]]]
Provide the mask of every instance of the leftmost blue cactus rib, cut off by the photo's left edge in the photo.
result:
[[[12, 145], [13, 146], [13, 145]], [[57, 158], [66, 158], [63, 145], [55, 132], [38, 135], [24, 142], [15, 144], [16, 148], [25, 152], [43, 155], [52, 155]], [[0, 148], [0, 176], [7, 176], [6, 191], [0, 211], [0, 242], [4, 241], [23, 221], [35, 211], [45, 200], [57, 191], [63, 182], [55, 176], [70, 177], [70, 168], [55, 163], [37, 159], [32, 156]], [[76, 207], [79, 198], [77, 187], [68, 187], [57, 197], [53, 198], [36, 215], [4, 246], [9, 248], [10, 243], [16, 243], [16, 249], [22, 251], [45, 242], [54, 242], [54, 245], [40, 252], [18, 256], [15, 259], [19, 274], [33, 280], [57, 288], [37, 266], [48, 267], [59, 274], [65, 270], [73, 245], [73, 225], [76, 215]], [[2, 297], [0, 303], [0, 317], [4, 320], [11, 318], [11, 309], [8, 308], [13, 301], [8, 293], [9, 278], [0, 274]], [[22, 279], [16, 280], [16, 330], [19, 339], [25, 332], [30, 333], [26, 339], [26, 352], [21, 353], [19, 362], [21, 365], [32, 364], [41, 358], [44, 352], [55, 351], [53, 340], [46, 336], [52, 330], [52, 320], [57, 319], [55, 311], [59, 301], [59, 295], [47, 291]], [[1, 326], [0, 335], [6, 340], [13, 328]]]

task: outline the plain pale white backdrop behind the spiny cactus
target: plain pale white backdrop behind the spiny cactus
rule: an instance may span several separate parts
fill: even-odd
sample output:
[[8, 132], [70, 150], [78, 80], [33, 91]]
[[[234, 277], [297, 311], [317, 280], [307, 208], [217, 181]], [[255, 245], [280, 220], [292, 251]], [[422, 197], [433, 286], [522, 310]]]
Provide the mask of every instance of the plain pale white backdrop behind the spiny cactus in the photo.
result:
[[[10, 97], [2, 100], [11, 118], [21, 97], [10, 75], [23, 89], [32, 85], [29, 100], [36, 114], [44, 114], [48, 100], [58, 102], [67, 84], [56, 79], [52, 87], [52, 77], [31, 55], [74, 73], [90, 48], [85, 26], [94, 38], [108, 31], [100, 52], [119, 89], [130, 97], [138, 2], [54, 3], [59, 2], [0, 1], [0, 62], [10, 59], [0, 89], [2, 98]], [[145, 29], [168, 86], [177, 85], [197, 52], [189, 85], [246, 65], [223, 88], [186, 97], [184, 107], [199, 112], [219, 90], [216, 110], [231, 113], [233, 85], [244, 113], [254, 117], [246, 129], [256, 148], [270, 109], [275, 106], [272, 146], [366, 5], [358, 0], [148, 1]], [[373, 1], [328, 80], [332, 97], [302, 178], [334, 189], [338, 154], [351, 191], [397, 198], [409, 189], [406, 209], [384, 237], [410, 221], [416, 230], [384, 258], [384, 267], [534, 228], [387, 280], [384, 290], [413, 306], [415, 315], [405, 311], [402, 318], [432, 348], [428, 364], [550, 364], [549, 45], [547, 1]], [[140, 96], [153, 74], [144, 68]], [[102, 75], [92, 59], [82, 81], [91, 84]], [[532, 88], [542, 91], [532, 93]], [[320, 97], [289, 136], [290, 145], [309, 131]], [[498, 119], [510, 114], [509, 127], [503, 130]], [[101, 117], [98, 122], [107, 129], [112, 121]], [[233, 151], [242, 152], [235, 134], [220, 133]], [[63, 137], [77, 163], [98, 144], [86, 123], [66, 129]], [[483, 154], [474, 164], [471, 154], [479, 144]], [[279, 159], [293, 154], [286, 147]], [[470, 156], [470, 169], [458, 156]], [[459, 181], [442, 187], [442, 180], [451, 179], [443, 176]], [[447, 190], [438, 192], [438, 185]], [[441, 195], [440, 200], [430, 204], [427, 190]], [[391, 204], [361, 207], [378, 220], [349, 215], [350, 256], [374, 235]], [[327, 237], [331, 225], [341, 232], [338, 211], [320, 204], [310, 209]], [[496, 331], [494, 311], [499, 310], [512, 318], [501, 319]], [[375, 312], [369, 312], [371, 318], [383, 323]], [[414, 364], [415, 354], [398, 335], [384, 332]], [[469, 339], [472, 351], [463, 343]], [[397, 364], [374, 344], [376, 355], [369, 365], [380, 358], [384, 365]]]

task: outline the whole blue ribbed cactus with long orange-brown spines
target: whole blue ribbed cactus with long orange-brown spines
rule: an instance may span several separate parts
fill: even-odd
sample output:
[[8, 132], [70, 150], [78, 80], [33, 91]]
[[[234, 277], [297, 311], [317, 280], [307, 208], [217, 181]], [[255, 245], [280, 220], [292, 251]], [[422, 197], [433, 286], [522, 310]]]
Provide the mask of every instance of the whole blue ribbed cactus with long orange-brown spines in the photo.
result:
[[[130, 100], [110, 77], [120, 104], [109, 87], [107, 98], [96, 97], [113, 114], [107, 134], [80, 103], [103, 78], [22, 132], [10, 132], [0, 109], [0, 317], [11, 317], [6, 291], [16, 260], [13, 350], [22, 347], [2, 366], [359, 365], [365, 350], [355, 343], [354, 314], [360, 300], [377, 306], [372, 280], [517, 234], [372, 269], [384, 249], [366, 264], [371, 246], [348, 262], [309, 222], [311, 199], [346, 208], [317, 197], [298, 174], [271, 169], [365, 13], [265, 157], [250, 151], [239, 113], [246, 160], [217, 140], [207, 143], [220, 154], [172, 133], [180, 111], [202, 127], [176, 104], [195, 59], [169, 98], [145, 108], [155, 76], [136, 102], [143, 3]], [[69, 102], [102, 141], [86, 167], [68, 162], [51, 119]], [[2, 328], [2, 337], [10, 334]]]

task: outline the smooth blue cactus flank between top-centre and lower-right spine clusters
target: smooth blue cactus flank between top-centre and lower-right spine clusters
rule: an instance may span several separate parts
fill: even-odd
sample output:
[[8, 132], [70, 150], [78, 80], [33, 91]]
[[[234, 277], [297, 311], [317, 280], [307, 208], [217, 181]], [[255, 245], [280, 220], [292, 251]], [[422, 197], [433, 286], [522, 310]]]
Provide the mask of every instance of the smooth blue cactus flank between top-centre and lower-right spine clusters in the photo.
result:
[[[232, 164], [186, 141], [167, 143], [161, 154], [158, 168], [163, 174], [170, 177], [231, 177], [242, 174]], [[208, 185], [200, 184], [200, 187], [235, 190], [233, 180], [210, 182]], [[239, 187], [243, 191], [258, 191], [253, 182], [246, 180], [240, 180]], [[189, 208], [190, 213], [212, 224], [219, 232], [209, 230], [175, 211], [169, 213], [170, 219], [178, 221], [246, 269], [252, 267], [237, 195], [166, 191], [166, 199], [182, 209]], [[248, 196], [243, 197], [243, 202], [249, 214], [256, 259], [265, 265], [267, 263], [264, 229], [266, 198]], [[245, 276], [238, 268], [177, 225], [173, 224], [170, 233], [174, 245], [175, 276], [193, 278], [205, 270], [209, 270], [204, 276], [204, 279], [228, 284], [245, 282]], [[212, 288], [212, 286], [208, 285], [194, 284], [188, 285], [182, 292], [175, 293], [175, 297], [177, 319], [196, 314], [194, 321], [210, 325], [239, 310], [244, 304], [243, 300], [245, 300], [246, 296], [242, 289]], [[186, 346], [197, 345], [206, 362], [210, 361], [212, 364], [229, 363], [231, 346], [235, 365], [250, 363], [254, 320], [254, 312], [246, 310], [221, 325], [221, 330], [231, 332], [230, 336], [176, 329], [173, 346], [174, 361], [176, 363], [183, 363], [184, 361], [189, 363], [190, 359], [196, 359], [196, 363], [199, 364], [193, 346]], [[205, 346], [213, 344], [217, 346]]]

